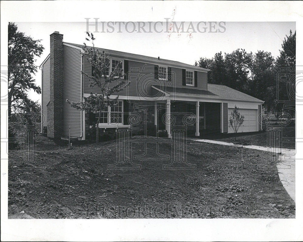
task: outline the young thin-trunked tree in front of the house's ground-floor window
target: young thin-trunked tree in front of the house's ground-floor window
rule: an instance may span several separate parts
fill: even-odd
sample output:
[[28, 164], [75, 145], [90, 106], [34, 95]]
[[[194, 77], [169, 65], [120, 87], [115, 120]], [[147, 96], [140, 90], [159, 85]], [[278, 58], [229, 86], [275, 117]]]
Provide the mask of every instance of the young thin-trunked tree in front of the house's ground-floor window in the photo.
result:
[[115, 95], [117, 92], [120, 92], [125, 87], [129, 86], [130, 82], [125, 82], [121, 79], [122, 76], [122, 63], [118, 63], [115, 68], [110, 72], [110, 59], [108, 54], [104, 51], [100, 52], [99, 49], [95, 48], [94, 44], [94, 35], [86, 32], [88, 38], [87, 41], [92, 41], [92, 47], [86, 46], [84, 43], [83, 46], [83, 55], [86, 60], [92, 64], [92, 75], [88, 75], [85, 72], [82, 72], [86, 77], [89, 78], [90, 87], [98, 86], [101, 94], [90, 93], [90, 96], [84, 97], [84, 102], [68, 102], [75, 109], [86, 110], [92, 113], [98, 113], [98, 120], [96, 124], [96, 143], [99, 142], [99, 123], [102, 111], [105, 110], [107, 106], [116, 106], [118, 104], [119, 96], [116, 96], [114, 99], [110, 99], [111, 95]]

